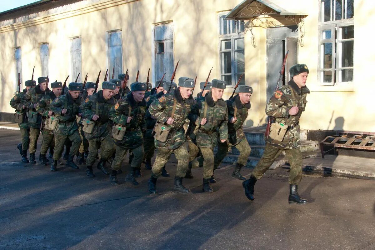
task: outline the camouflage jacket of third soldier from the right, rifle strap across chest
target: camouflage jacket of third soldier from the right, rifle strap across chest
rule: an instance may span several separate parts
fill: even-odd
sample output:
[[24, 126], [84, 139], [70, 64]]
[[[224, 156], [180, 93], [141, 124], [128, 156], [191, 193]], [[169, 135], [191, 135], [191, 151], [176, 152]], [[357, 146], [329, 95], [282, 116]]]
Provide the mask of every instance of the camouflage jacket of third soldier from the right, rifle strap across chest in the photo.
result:
[[228, 110], [223, 99], [213, 101], [212, 93], [197, 99], [193, 106], [189, 120], [199, 126], [204, 116], [204, 109], [207, 106], [207, 123], [201, 125], [196, 133], [198, 147], [213, 148], [216, 145], [217, 137], [228, 140]]

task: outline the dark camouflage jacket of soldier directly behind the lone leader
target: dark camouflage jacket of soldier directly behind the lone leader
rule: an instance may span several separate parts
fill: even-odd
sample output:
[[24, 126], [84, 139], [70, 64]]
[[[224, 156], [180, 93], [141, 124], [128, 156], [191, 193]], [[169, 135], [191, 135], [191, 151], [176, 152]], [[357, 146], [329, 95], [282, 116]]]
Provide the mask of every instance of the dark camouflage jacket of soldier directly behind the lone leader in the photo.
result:
[[[251, 103], [242, 104], [239, 95], [236, 95], [225, 102], [228, 107], [228, 141], [230, 144], [236, 145], [245, 139], [242, 125], [248, 117], [248, 110], [251, 108]], [[236, 114], [234, 111], [236, 111]], [[230, 120], [234, 115], [236, 115], [237, 121], [231, 123]]]

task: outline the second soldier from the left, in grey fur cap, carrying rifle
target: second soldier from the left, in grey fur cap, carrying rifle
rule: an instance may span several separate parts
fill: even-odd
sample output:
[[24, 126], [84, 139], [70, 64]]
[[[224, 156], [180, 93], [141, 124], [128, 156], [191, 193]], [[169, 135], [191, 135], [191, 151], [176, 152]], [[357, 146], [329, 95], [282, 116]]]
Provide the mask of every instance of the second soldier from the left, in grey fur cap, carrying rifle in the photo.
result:
[[30, 88], [25, 94], [25, 106], [28, 108], [27, 122], [30, 127], [30, 145], [28, 148], [30, 163], [36, 163], [36, 143], [40, 134], [40, 124], [42, 124], [42, 116], [36, 111], [36, 103], [42, 99], [43, 96], [49, 94], [50, 90], [47, 88], [48, 81], [48, 78], [45, 76], [39, 77], [38, 85], [34, 88]]

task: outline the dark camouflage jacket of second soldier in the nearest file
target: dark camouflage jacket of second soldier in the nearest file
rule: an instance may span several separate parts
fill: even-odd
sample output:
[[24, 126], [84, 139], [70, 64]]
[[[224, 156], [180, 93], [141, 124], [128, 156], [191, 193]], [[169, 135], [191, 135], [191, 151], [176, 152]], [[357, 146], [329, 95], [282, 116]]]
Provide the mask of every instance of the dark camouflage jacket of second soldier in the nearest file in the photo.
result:
[[[122, 141], [113, 139], [117, 146], [133, 149], [143, 144], [142, 133], [146, 132], [145, 114], [146, 101], [143, 99], [141, 102], [136, 102], [132, 93], [128, 93], [126, 98], [117, 101], [108, 114], [115, 124], [126, 127]], [[133, 117], [130, 123], [126, 123], [128, 117]]]

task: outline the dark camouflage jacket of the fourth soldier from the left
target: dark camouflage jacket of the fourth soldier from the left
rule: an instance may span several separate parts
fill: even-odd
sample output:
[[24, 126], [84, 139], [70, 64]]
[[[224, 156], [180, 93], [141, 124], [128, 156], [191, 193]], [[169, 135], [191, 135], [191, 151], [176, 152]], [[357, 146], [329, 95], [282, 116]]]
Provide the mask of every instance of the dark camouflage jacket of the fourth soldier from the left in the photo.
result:
[[[72, 135], [78, 129], [75, 119], [79, 113], [82, 113], [80, 105], [81, 98], [78, 97], [74, 100], [69, 91], [51, 102], [49, 107], [54, 112], [55, 117], [60, 120], [54, 130], [55, 134], [68, 136]], [[66, 114], [61, 114], [63, 109], [67, 109]]]

